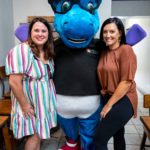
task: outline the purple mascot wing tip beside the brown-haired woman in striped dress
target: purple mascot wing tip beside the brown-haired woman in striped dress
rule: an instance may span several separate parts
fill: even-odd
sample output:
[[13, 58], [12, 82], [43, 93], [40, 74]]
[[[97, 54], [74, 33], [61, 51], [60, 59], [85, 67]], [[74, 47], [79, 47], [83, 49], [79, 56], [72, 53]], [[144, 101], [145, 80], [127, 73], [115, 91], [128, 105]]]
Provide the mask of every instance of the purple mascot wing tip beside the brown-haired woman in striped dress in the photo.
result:
[[16, 30], [15, 30], [15, 36], [21, 41], [25, 42], [28, 39], [28, 29], [29, 29], [29, 24], [25, 23], [20, 25]]

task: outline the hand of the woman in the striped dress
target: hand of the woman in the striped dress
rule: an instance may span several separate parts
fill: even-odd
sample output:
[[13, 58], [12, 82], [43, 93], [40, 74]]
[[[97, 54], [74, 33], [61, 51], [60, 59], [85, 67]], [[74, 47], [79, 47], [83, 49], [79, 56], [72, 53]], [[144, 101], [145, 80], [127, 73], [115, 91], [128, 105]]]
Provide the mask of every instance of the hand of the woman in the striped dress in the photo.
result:
[[33, 109], [33, 107], [31, 106], [30, 103], [27, 102], [26, 104], [24, 104], [24, 105], [21, 107], [21, 109], [22, 109], [23, 115], [24, 115], [26, 118], [28, 118], [28, 117], [32, 118], [33, 116], [35, 116], [34, 109]]

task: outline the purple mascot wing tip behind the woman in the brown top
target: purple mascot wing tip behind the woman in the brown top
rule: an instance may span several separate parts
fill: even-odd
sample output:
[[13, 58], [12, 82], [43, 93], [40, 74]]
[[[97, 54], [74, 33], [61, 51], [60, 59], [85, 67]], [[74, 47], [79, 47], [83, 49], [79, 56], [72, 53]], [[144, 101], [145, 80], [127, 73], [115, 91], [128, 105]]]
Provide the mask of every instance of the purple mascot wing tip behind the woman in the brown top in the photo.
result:
[[132, 25], [126, 33], [127, 44], [133, 46], [143, 40], [147, 36], [144, 29], [138, 24]]

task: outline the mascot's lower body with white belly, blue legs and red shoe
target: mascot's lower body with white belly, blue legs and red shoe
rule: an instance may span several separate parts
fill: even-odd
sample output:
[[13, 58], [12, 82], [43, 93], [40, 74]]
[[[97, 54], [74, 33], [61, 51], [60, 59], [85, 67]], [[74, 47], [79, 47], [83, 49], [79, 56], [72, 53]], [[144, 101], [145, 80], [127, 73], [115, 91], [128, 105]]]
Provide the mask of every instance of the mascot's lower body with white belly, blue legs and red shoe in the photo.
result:
[[[93, 135], [100, 121], [100, 95], [64, 96], [57, 94], [58, 121], [67, 142], [59, 150], [93, 150]], [[81, 145], [81, 146], [80, 146]]]

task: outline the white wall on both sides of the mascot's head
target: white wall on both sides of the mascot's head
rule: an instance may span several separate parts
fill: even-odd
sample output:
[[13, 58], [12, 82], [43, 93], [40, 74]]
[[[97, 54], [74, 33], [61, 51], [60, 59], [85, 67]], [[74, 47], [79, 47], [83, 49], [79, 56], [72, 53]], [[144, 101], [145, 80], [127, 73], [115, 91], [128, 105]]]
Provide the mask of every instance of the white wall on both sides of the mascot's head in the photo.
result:
[[[19, 23], [27, 22], [28, 16], [54, 16], [47, 0], [13, 0], [14, 30]], [[106, 11], [107, 10], [107, 11]], [[103, 0], [98, 9], [101, 22], [111, 16], [111, 0]], [[18, 43], [18, 40], [15, 40]]]

